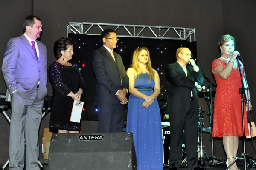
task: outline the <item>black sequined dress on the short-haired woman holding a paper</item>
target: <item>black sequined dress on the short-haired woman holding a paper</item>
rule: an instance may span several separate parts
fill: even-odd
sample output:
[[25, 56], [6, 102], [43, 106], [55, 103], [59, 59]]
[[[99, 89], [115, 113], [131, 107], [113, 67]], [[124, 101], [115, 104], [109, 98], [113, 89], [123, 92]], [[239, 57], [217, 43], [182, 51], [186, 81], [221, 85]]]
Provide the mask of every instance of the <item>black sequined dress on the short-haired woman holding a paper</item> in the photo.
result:
[[67, 96], [71, 91], [76, 93], [79, 88], [84, 90], [84, 80], [78, 68], [74, 64], [65, 66], [53, 62], [49, 68], [49, 80], [53, 89], [49, 128], [80, 131], [80, 123], [70, 122], [74, 100]]

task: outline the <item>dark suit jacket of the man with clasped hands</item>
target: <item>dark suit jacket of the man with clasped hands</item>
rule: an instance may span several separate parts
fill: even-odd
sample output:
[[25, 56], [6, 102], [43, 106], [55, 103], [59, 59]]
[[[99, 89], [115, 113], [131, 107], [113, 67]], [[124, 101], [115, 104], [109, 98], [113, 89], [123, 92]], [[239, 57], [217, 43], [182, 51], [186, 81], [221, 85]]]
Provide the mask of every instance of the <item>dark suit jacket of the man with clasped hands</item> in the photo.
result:
[[98, 105], [119, 103], [116, 92], [119, 89], [129, 88], [129, 78], [122, 58], [116, 52], [114, 57], [116, 62], [104, 46], [93, 51], [92, 68], [97, 79]]

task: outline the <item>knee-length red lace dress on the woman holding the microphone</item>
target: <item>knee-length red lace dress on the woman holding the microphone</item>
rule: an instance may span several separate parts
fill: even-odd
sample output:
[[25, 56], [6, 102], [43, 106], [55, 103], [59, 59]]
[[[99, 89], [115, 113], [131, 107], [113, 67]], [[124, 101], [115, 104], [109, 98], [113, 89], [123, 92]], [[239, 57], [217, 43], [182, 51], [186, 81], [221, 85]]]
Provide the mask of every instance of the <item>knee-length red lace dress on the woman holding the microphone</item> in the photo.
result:
[[[236, 62], [236, 61], [235, 61]], [[221, 79], [214, 72], [218, 67], [225, 68], [227, 63], [221, 59], [212, 62], [217, 88], [214, 99], [214, 116], [212, 137], [243, 136], [241, 94], [238, 90], [242, 87], [239, 68], [233, 68], [227, 79]], [[241, 66], [242, 68], [242, 66]], [[242, 77], [244, 77], [243, 69]], [[249, 135], [246, 108], [244, 103], [245, 135]]]

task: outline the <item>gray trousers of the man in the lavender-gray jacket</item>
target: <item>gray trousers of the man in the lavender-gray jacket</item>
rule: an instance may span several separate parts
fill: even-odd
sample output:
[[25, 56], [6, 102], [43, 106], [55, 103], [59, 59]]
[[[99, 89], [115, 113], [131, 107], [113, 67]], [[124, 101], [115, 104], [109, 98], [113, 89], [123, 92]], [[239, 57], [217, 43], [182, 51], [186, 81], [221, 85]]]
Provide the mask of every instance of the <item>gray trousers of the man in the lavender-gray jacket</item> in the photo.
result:
[[11, 104], [9, 169], [23, 170], [26, 138], [26, 170], [40, 170], [38, 167], [38, 130], [44, 100], [40, 101], [38, 99], [38, 89], [35, 90], [30, 99], [22, 99], [16, 91], [11, 96]]

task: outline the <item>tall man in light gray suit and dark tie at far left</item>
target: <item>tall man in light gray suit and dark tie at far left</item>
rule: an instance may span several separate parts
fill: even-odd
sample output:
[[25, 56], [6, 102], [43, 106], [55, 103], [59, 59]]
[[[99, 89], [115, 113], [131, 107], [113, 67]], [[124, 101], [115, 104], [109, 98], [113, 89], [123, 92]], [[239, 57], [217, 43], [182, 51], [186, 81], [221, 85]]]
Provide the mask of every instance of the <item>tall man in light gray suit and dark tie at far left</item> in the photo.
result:
[[46, 47], [36, 39], [42, 32], [40, 18], [26, 17], [24, 34], [8, 41], [3, 77], [11, 94], [9, 142], [10, 170], [23, 170], [26, 138], [26, 170], [39, 170], [38, 130], [47, 95]]

